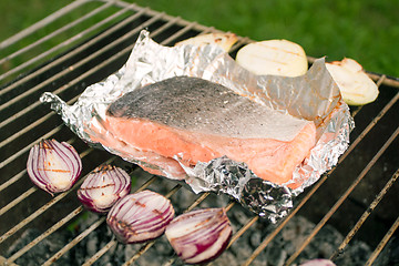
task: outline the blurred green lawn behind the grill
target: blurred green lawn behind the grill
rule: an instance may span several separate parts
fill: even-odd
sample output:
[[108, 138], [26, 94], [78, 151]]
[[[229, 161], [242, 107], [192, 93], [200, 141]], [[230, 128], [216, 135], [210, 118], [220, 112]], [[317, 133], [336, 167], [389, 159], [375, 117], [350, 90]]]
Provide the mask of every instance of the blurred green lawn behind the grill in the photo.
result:
[[[0, 41], [69, 0], [1, 0]], [[253, 40], [287, 39], [311, 57], [352, 58], [368, 71], [399, 76], [398, 0], [126, 0]], [[76, 16], [83, 16], [80, 10]], [[47, 34], [43, 32], [42, 34]], [[32, 35], [32, 38], [38, 38]], [[27, 43], [31, 41], [25, 40]], [[21, 48], [24, 42], [19, 43]], [[1, 70], [0, 70], [1, 71]]]

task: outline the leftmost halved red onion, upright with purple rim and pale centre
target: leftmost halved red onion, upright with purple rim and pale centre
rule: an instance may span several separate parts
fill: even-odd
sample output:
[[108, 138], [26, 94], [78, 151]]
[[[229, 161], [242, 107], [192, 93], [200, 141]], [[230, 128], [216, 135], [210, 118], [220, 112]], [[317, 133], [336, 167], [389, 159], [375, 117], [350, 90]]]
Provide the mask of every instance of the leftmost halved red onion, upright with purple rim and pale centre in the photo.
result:
[[82, 161], [66, 142], [42, 140], [30, 150], [27, 170], [37, 186], [53, 195], [72, 187], [82, 172]]

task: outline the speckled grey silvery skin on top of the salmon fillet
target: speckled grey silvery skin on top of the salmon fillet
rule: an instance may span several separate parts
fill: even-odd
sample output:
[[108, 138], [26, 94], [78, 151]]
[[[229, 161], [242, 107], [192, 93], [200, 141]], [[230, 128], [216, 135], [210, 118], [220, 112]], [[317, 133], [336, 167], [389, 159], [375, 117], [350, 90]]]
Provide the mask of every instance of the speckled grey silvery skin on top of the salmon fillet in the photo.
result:
[[198, 78], [175, 76], [126, 93], [108, 115], [238, 139], [290, 141], [307, 121], [255, 103]]

